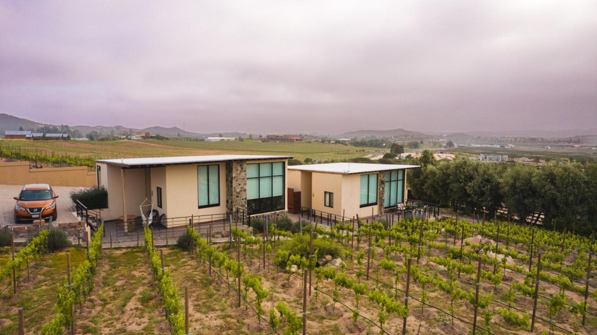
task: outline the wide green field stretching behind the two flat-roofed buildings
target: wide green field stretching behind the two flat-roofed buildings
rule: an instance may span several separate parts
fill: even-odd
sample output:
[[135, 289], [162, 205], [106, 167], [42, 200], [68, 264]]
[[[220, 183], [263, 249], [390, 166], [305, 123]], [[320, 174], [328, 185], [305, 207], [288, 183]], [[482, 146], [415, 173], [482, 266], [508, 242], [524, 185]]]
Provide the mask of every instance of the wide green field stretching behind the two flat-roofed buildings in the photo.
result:
[[41, 154], [93, 156], [97, 159], [127, 157], [199, 156], [210, 154], [270, 154], [288, 155], [303, 161], [307, 157], [320, 161], [340, 161], [356, 157], [377, 156], [383, 148], [353, 147], [322, 143], [275, 143], [245, 139], [245, 141], [202, 142], [182, 139], [146, 139], [122, 141], [27, 141], [0, 140], [2, 147], [38, 151]]

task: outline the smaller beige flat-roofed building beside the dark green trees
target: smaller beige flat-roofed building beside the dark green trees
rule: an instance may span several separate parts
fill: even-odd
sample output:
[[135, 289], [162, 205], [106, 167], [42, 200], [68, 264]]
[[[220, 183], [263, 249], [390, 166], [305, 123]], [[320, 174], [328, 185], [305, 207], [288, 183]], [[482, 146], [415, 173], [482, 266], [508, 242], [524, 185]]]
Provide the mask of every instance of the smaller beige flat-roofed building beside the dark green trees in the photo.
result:
[[352, 218], [383, 214], [406, 201], [407, 170], [417, 165], [328, 163], [288, 167], [300, 206]]

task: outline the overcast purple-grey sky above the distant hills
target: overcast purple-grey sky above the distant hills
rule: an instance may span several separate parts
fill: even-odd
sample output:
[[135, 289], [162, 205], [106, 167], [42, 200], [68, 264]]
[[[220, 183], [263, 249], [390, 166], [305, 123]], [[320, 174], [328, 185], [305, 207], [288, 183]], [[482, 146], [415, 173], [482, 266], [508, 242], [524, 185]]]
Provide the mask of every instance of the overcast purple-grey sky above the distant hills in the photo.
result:
[[0, 113], [195, 132], [597, 127], [597, 1], [0, 0]]

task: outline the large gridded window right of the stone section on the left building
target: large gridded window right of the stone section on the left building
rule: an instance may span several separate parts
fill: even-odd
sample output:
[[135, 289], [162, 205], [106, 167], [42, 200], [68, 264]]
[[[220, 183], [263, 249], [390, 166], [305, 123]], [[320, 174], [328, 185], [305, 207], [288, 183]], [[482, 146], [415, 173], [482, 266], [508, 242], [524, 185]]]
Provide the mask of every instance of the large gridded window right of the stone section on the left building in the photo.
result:
[[247, 164], [249, 213], [284, 209], [284, 162]]

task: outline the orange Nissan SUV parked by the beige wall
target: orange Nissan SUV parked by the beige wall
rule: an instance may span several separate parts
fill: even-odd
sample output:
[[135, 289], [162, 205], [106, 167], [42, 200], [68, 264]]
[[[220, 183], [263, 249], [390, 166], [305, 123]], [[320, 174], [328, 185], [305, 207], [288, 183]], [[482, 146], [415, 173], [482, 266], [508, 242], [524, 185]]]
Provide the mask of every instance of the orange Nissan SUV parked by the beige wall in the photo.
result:
[[27, 184], [21, 190], [14, 206], [14, 221], [21, 220], [49, 219], [58, 217], [56, 210], [56, 198], [54, 191], [48, 184]]

